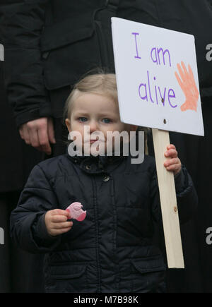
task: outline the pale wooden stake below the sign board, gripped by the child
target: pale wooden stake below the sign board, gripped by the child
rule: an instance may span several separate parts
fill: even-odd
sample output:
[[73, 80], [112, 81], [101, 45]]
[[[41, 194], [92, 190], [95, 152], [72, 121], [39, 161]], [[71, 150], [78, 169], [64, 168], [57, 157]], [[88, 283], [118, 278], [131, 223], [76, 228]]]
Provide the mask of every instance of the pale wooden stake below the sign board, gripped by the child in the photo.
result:
[[167, 150], [167, 145], [170, 144], [170, 135], [168, 131], [154, 128], [152, 131], [167, 265], [170, 268], [184, 268], [174, 174], [171, 171], [167, 171], [163, 166], [163, 163], [167, 159], [164, 153]]

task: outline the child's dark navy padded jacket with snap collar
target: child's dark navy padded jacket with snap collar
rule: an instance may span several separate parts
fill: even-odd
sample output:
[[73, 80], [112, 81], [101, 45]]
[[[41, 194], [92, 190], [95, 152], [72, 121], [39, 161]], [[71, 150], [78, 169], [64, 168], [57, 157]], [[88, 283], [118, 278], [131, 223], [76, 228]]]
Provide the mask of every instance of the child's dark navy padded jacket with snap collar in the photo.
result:
[[[88, 165], [90, 167], [88, 167]], [[197, 203], [186, 169], [175, 179], [180, 222]], [[50, 237], [47, 210], [75, 201], [87, 211], [66, 234]], [[21, 248], [45, 255], [48, 292], [165, 291], [165, 262], [153, 245], [160, 200], [153, 157], [70, 157], [40, 162], [11, 214], [11, 235]]]

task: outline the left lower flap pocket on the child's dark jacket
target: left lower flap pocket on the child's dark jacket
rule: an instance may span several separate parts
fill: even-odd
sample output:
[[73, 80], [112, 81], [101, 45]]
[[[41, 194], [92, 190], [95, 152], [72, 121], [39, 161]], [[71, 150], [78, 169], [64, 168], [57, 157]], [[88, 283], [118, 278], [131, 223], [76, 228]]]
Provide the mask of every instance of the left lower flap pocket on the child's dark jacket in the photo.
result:
[[55, 265], [49, 268], [47, 292], [87, 292], [87, 265]]

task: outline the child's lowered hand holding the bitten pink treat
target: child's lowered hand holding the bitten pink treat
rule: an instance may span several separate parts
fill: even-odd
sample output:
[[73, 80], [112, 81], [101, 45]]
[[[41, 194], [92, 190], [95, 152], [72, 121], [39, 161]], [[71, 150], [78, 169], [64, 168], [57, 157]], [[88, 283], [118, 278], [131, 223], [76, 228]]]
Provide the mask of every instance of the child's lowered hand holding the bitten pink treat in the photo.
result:
[[[64, 234], [71, 229], [73, 222], [66, 222], [69, 212], [61, 209], [49, 210], [45, 214], [45, 224], [51, 236]], [[70, 218], [70, 217], [69, 217]]]

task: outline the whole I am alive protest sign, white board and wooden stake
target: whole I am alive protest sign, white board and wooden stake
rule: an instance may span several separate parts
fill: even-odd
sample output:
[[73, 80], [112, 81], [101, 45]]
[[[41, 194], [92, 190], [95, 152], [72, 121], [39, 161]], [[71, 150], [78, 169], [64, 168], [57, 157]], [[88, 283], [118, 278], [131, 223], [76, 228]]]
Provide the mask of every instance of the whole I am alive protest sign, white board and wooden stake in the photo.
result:
[[168, 267], [184, 268], [174, 174], [164, 167], [169, 131], [204, 136], [194, 36], [112, 18], [119, 112], [150, 127]]

